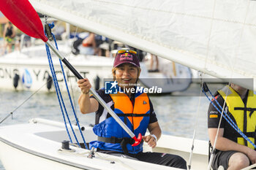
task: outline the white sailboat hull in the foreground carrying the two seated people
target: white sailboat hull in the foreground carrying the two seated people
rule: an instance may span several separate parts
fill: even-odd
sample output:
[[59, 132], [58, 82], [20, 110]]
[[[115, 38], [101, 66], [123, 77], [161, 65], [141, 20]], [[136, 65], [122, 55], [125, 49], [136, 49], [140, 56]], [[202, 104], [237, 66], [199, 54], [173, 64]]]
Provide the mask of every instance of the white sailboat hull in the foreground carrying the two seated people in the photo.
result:
[[[61, 142], [69, 140], [63, 123], [35, 118], [30, 123], [0, 127], [0, 159], [7, 170], [56, 170], [56, 169], [175, 169], [153, 163], [95, 152], [88, 158], [90, 150], [71, 146], [62, 149]], [[79, 133], [78, 126], [73, 126]], [[91, 127], [83, 128], [86, 142], [96, 140]], [[70, 130], [70, 129], [69, 129]], [[75, 139], [72, 139], [75, 141]], [[83, 140], [78, 139], [80, 142]], [[181, 155], [187, 161], [192, 139], [162, 135], [154, 152], [169, 152]], [[200, 146], [200, 147], [199, 147]], [[144, 144], [144, 151], [152, 151]], [[196, 140], [193, 155], [193, 169], [207, 169], [208, 142]]]

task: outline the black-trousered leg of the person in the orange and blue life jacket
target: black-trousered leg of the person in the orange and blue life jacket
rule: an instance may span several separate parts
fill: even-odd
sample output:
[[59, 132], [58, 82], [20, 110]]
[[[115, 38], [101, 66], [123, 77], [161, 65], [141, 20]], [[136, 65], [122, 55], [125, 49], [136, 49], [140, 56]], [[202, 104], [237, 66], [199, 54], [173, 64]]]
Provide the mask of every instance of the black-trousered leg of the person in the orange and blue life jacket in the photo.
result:
[[179, 169], [187, 169], [187, 163], [184, 158], [178, 155], [171, 155], [159, 152], [139, 152], [135, 158], [139, 161], [156, 163], [163, 166], [171, 166]]

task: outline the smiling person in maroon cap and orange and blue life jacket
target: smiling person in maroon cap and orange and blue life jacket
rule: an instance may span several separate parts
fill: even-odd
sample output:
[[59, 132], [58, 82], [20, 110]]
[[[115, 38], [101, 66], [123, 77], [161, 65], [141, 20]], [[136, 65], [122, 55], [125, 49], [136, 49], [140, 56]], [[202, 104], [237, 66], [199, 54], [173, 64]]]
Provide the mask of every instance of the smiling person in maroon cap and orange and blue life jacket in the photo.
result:
[[[146, 93], [132, 90], [132, 88], [137, 88], [136, 83], [140, 76], [140, 62], [137, 52], [129, 49], [118, 50], [113, 63], [112, 74], [113, 80], [115, 80], [112, 85], [116, 87], [116, 93], [107, 93], [105, 88], [97, 90], [97, 93], [135, 136], [142, 134], [144, 142], [147, 142], [150, 147], [156, 147], [162, 132], [153, 105]], [[116, 123], [116, 120], [99, 104], [94, 96], [89, 96], [89, 89], [91, 88], [89, 80], [78, 80], [78, 87], [82, 92], [78, 99], [80, 112], [83, 114], [96, 112], [93, 131], [98, 139], [90, 142], [90, 149], [96, 147], [97, 152], [187, 169], [186, 161], [178, 155], [143, 152], [143, 142], [132, 147], [133, 139]], [[150, 135], [145, 136], [147, 129]]]

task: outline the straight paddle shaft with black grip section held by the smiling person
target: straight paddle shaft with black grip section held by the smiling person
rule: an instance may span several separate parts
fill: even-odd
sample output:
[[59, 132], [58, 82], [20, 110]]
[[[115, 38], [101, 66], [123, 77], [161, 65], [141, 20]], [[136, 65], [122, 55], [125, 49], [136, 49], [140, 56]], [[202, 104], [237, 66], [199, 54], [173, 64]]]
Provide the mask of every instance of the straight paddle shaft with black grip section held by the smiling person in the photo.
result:
[[[51, 50], [53, 50], [54, 53], [56, 53], [56, 55], [61, 59], [61, 61], [67, 66], [67, 68], [69, 68], [69, 70], [75, 75], [75, 77], [78, 77], [78, 79], [83, 79], [83, 77], [79, 74], [79, 72], [69, 63], [69, 61], [66, 60], [66, 58], [64, 58], [61, 53], [59, 53], [59, 50], [56, 50], [56, 48], [49, 42], [49, 40], [47, 42], [45, 42], [45, 44], [47, 44]], [[129, 134], [129, 136], [131, 136], [132, 138], [135, 137], [135, 134], [132, 133], [132, 131], [127, 127], [127, 125], [124, 124], [124, 122], [116, 115], [116, 113], [106, 104], [106, 102], [99, 96], [99, 94], [93, 89], [90, 88], [90, 92], [92, 93], [92, 95], [94, 95], [94, 97], [97, 99], [97, 101], [99, 101], [99, 104], [102, 104], [102, 107], [105, 107], [105, 109], [108, 110], [108, 112], [110, 113], [110, 115], [116, 120], [116, 122], [121, 125], [122, 128], [124, 128], [124, 131], [127, 132], [127, 134]]]

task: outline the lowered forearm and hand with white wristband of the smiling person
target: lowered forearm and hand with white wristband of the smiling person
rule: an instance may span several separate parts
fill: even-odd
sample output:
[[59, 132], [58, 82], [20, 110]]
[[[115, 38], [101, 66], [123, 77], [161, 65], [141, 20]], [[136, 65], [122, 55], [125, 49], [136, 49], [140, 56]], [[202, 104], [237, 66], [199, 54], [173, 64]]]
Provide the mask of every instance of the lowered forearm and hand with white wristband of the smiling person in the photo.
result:
[[[158, 122], [148, 124], [148, 131], [149, 131], [150, 135], [142, 136], [142, 139], [145, 142], [147, 142], [150, 147], [154, 148], [157, 146], [157, 140], [159, 140], [162, 135], [162, 131], [161, 131], [161, 128], [160, 128]], [[152, 135], [156, 136], [157, 140]]]

